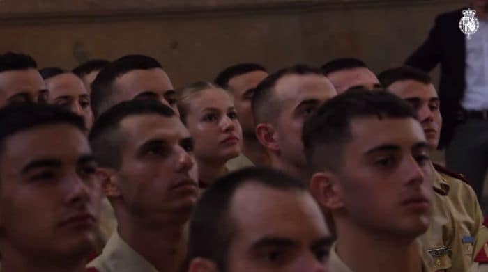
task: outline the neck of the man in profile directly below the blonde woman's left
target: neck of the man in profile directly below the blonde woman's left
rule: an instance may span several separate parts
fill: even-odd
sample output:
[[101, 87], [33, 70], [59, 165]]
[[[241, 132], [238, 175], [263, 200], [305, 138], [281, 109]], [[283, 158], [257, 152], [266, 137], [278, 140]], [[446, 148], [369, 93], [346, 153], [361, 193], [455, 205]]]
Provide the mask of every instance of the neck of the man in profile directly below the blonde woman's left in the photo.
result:
[[185, 223], [181, 223], [180, 219], [147, 221], [118, 214], [117, 220], [123, 241], [158, 271], [176, 272], [180, 269], [186, 254]]

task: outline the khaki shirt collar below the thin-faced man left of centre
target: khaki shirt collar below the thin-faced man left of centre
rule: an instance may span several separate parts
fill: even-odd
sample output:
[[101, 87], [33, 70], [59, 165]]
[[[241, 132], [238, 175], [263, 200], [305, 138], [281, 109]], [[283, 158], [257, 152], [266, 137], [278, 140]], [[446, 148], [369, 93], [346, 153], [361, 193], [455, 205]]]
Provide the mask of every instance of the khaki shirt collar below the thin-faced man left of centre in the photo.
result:
[[99, 272], [158, 272], [155, 267], [123, 241], [118, 232], [110, 237], [102, 254], [86, 267]]

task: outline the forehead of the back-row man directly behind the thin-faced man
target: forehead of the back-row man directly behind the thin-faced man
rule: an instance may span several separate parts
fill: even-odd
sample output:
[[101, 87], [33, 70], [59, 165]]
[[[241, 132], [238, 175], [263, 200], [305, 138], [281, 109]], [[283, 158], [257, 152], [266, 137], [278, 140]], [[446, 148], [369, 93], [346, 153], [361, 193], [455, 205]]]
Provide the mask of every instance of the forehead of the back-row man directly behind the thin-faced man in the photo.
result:
[[167, 90], [173, 89], [168, 75], [161, 68], [131, 70], [117, 77], [114, 87], [121, 93], [123, 99], [132, 99], [145, 91], [164, 95]]

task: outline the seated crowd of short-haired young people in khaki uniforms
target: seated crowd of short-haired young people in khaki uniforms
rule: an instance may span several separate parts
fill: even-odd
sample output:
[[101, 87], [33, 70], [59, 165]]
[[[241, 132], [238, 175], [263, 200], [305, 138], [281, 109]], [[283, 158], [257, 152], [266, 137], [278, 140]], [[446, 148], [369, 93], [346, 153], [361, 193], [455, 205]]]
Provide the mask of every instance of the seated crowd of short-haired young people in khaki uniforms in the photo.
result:
[[174, 90], [148, 56], [37, 69], [0, 56], [2, 271], [488, 269], [420, 70], [245, 63]]

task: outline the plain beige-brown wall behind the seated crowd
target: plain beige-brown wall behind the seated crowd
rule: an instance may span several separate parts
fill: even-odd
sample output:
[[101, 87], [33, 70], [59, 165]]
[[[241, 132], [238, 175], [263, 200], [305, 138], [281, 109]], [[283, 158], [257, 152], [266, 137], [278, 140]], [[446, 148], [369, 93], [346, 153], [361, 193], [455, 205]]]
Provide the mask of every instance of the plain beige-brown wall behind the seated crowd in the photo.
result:
[[420, 45], [436, 14], [465, 2], [0, 0], [0, 51], [68, 68], [88, 58], [148, 54], [176, 86], [213, 79], [243, 61], [274, 70], [356, 56], [379, 72]]

